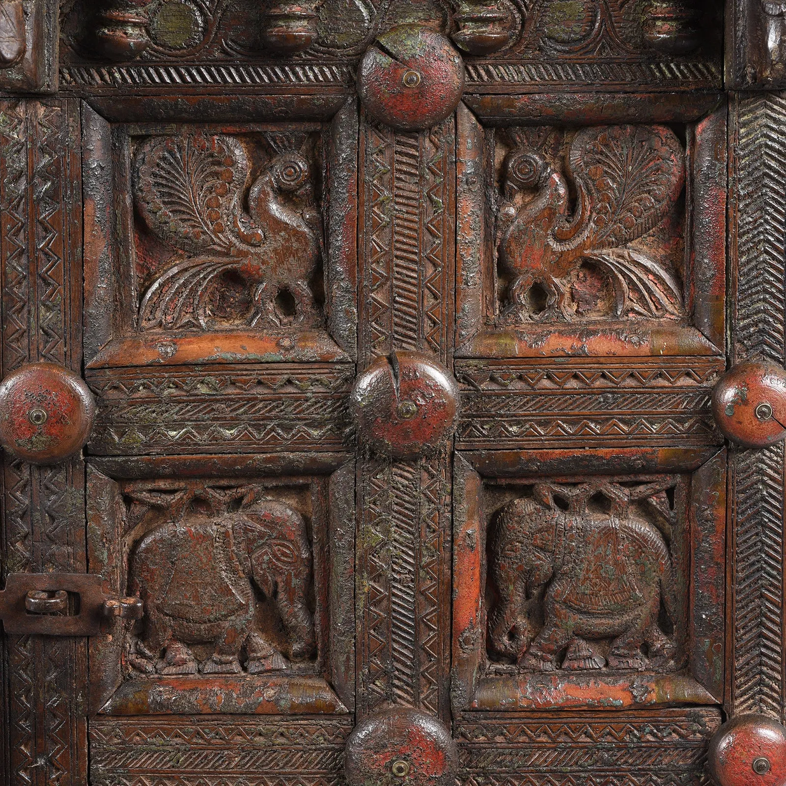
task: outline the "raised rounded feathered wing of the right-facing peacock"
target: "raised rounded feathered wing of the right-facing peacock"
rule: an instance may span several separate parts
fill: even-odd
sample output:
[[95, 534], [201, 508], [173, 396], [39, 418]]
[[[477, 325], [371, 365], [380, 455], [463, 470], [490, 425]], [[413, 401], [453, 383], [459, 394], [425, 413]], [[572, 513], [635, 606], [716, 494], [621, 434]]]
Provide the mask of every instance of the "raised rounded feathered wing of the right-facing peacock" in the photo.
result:
[[156, 137], [145, 142], [136, 161], [137, 209], [153, 232], [185, 252], [233, 254], [249, 169], [236, 139], [201, 133]]

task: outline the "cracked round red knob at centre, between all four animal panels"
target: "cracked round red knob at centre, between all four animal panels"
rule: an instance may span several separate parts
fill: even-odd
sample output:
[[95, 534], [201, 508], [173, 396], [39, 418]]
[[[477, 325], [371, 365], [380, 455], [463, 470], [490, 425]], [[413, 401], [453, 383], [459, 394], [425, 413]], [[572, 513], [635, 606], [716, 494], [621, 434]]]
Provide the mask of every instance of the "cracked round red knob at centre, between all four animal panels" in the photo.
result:
[[432, 358], [395, 352], [358, 376], [350, 404], [363, 444], [382, 456], [414, 458], [453, 433], [458, 388]]

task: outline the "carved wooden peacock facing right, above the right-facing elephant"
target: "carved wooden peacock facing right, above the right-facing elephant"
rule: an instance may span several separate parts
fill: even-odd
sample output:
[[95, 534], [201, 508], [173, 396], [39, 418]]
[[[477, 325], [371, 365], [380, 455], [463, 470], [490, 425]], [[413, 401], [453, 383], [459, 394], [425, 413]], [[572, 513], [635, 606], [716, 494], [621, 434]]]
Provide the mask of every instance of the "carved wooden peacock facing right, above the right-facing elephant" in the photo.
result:
[[134, 167], [138, 215], [178, 255], [141, 297], [139, 329], [318, 320], [309, 281], [322, 233], [309, 140], [265, 138], [272, 154], [255, 178], [244, 145], [226, 134], [196, 131], [141, 145]]

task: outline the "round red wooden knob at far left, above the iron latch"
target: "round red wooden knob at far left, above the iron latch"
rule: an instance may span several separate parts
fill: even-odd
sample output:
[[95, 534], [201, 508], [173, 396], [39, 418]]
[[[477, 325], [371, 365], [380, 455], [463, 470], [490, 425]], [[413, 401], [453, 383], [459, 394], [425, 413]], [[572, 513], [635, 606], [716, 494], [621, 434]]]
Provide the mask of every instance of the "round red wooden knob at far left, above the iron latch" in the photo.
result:
[[0, 384], [0, 444], [23, 461], [57, 464], [82, 450], [94, 414], [87, 385], [61, 365], [24, 365]]

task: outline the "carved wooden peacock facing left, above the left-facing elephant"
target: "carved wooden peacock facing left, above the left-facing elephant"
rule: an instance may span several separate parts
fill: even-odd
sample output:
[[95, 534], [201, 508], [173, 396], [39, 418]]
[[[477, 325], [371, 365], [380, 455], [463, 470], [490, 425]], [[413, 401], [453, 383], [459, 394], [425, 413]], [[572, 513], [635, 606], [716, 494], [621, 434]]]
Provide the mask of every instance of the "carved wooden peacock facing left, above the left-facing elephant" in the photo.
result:
[[630, 245], [656, 230], [681, 196], [684, 152], [674, 132], [586, 127], [564, 153], [552, 129], [509, 134], [515, 147], [503, 163], [497, 233], [509, 276], [503, 318], [581, 318], [604, 290], [602, 318], [680, 318], [678, 276], [647, 244]]

